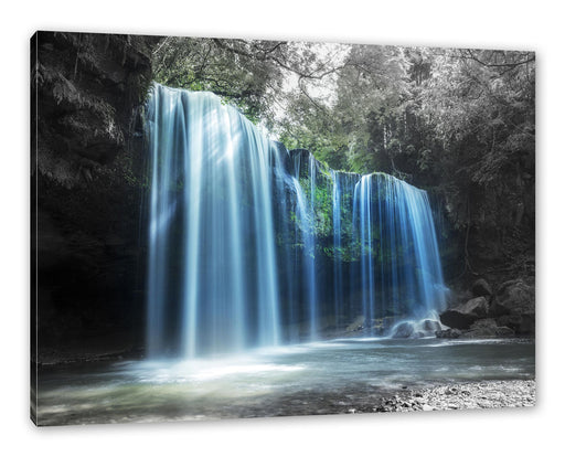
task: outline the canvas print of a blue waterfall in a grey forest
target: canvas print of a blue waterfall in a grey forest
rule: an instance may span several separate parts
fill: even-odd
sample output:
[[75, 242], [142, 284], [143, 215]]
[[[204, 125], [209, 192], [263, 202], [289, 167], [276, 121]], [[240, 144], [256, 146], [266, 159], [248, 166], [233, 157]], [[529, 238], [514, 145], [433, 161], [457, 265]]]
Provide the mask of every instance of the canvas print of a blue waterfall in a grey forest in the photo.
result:
[[31, 40], [36, 425], [532, 406], [534, 279], [533, 52]]

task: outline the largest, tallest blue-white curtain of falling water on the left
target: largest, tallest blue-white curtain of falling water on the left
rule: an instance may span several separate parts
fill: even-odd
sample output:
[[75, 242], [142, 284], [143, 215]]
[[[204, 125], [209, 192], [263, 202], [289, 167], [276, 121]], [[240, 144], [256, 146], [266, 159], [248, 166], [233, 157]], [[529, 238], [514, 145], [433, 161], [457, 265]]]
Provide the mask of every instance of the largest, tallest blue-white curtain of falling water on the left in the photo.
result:
[[156, 85], [148, 119], [149, 353], [278, 344], [274, 144], [210, 93]]

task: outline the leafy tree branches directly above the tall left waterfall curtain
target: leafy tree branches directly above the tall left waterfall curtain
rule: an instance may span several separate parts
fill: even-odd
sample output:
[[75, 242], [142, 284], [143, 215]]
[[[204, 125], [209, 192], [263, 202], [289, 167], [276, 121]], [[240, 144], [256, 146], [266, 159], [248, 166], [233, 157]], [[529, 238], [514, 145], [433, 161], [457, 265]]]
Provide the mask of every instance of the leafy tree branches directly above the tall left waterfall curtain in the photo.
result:
[[[159, 83], [211, 91], [236, 105], [254, 121], [276, 129], [289, 99], [334, 74], [334, 52], [320, 43], [167, 38], [153, 55]], [[339, 52], [340, 45], [329, 46]]]

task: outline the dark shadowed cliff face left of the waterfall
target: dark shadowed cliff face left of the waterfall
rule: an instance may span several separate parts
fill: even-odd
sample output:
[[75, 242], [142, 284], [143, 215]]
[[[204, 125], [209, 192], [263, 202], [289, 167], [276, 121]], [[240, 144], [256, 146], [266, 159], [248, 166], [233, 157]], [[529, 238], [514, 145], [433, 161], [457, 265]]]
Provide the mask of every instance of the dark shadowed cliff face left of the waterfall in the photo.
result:
[[55, 358], [67, 358], [140, 341], [147, 180], [140, 107], [158, 42], [32, 38], [31, 283], [40, 360], [55, 347]]

